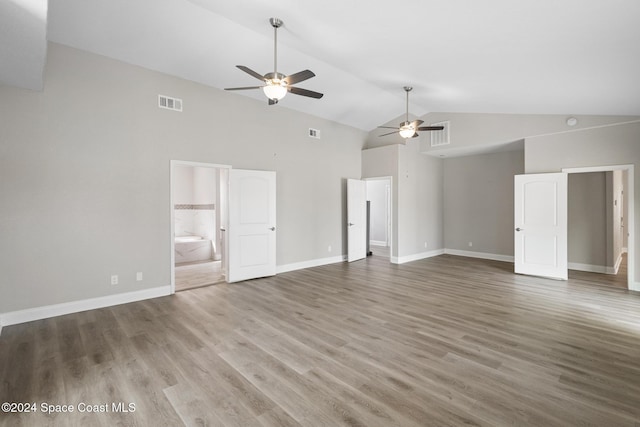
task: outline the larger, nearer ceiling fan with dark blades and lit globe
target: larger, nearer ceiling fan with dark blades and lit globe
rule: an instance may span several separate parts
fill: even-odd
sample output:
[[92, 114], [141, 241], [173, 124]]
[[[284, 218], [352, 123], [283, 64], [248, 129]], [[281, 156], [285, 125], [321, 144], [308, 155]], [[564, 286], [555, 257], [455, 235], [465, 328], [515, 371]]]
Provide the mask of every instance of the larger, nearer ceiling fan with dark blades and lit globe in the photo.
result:
[[291, 92], [294, 95], [308, 96], [309, 98], [322, 98], [322, 93], [293, 86], [296, 83], [300, 83], [314, 77], [315, 74], [313, 71], [303, 70], [298, 73], [291, 74], [290, 76], [285, 76], [278, 72], [278, 28], [282, 26], [283, 22], [278, 18], [271, 18], [269, 19], [269, 22], [273, 27], [273, 72], [262, 76], [249, 67], [236, 65], [236, 67], [250, 76], [253, 76], [258, 80], [262, 80], [264, 84], [262, 86], [229, 87], [225, 88], [225, 90], [262, 89], [267, 98], [269, 98], [269, 105], [277, 104], [279, 100], [284, 98], [287, 92]]

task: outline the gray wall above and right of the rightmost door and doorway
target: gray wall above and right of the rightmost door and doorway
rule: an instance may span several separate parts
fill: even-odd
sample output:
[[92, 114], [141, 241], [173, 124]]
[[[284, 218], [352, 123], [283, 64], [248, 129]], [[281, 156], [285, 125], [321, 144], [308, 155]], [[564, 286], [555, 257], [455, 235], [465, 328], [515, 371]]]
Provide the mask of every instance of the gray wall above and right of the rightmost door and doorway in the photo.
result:
[[[607, 165], [634, 165], [634, 191], [629, 192], [635, 205], [636, 233], [640, 230], [640, 123], [621, 124], [576, 132], [566, 132], [529, 138], [525, 141], [526, 173], [559, 172], [563, 168], [594, 167]], [[634, 245], [636, 287], [640, 287], [640, 248]]]

